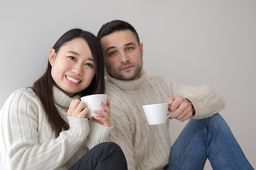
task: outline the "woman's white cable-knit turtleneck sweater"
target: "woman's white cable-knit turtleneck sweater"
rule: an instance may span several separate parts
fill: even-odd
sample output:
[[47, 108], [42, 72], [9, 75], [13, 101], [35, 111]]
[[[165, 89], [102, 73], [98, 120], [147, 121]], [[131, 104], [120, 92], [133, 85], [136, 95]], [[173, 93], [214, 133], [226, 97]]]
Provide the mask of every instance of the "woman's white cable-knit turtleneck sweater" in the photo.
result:
[[110, 128], [87, 118], [68, 117], [73, 98], [55, 87], [53, 98], [58, 112], [70, 125], [70, 130], [60, 132], [57, 138], [31, 88], [9, 96], [0, 111], [0, 169], [68, 169], [88, 149], [105, 142]]

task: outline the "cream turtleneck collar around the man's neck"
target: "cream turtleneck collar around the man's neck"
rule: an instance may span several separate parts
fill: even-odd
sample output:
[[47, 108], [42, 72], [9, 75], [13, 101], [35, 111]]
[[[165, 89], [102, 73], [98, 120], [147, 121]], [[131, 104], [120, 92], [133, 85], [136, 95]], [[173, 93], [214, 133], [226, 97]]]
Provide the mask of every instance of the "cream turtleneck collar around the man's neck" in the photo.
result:
[[134, 80], [120, 80], [120, 79], [115, 79], [113, 77], [110, 77], [109, 74], [105, 71], [105, 77], [107, 77], [107, 80], [115, 84], [116, 86], [119, 87], [119, 89], [122, 89], [124, 91], [134, 91], [139, 89], [144, 80], [146, 79], [146, 72], [144, 69], [142, 69], [141, 72], [139, 72], [139, 78], [134, 79]]

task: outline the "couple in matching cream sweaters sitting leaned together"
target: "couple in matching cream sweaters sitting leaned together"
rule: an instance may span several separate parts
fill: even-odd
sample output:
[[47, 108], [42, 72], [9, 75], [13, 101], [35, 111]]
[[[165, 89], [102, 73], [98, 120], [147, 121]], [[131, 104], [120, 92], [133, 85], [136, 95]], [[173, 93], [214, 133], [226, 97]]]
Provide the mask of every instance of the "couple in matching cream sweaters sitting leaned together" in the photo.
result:
[[[253, 169], [218, 114], [223, 98], [209, 86], [147, 77], [142, 55], [124, 21], [106, 23], [97, 39], [80, 29], [62, 35], [45, 74], [1, 108], [1, 169], [203, 169], [207, 158], [213, 169]], [[88, 120], [79, 98], [105, 92], [102, 117]], [[170, 121], [148, 125], [142, 110], [166, 101], [171, 119], [192, 118], [174, 145]]]

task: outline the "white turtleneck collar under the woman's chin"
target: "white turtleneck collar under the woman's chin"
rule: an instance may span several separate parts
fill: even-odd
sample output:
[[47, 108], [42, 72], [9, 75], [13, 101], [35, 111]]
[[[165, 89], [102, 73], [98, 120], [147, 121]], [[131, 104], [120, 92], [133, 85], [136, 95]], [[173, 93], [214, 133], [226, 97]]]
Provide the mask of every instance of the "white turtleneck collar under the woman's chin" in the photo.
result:
[[[81, 96], [79, 94], [73, 96], [73, 98], [80, 98], [80, 97]], [[64, 94], [63, 91], [60, 91], [60, 89], [53, 86], [53, 100], [59, 106], [62, 106], [63, 108], [69, 108], [73, 98], [70, 98], [70, 96]]]

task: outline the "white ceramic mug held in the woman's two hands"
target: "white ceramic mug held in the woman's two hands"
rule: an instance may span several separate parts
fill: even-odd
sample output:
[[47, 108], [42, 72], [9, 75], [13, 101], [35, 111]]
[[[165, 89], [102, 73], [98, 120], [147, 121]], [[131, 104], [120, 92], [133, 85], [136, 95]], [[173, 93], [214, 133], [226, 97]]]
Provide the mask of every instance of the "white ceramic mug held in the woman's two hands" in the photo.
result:
[[81, 101], [85, 103], [86, 107], [89, 110], [90, 115], [88, 118], [92, 118], [94, 116], [102, 116], [93, 113], [93, 111], [105, 111], [102, 106], [100, 106], [100, 102], [107, 104], [107, 94], [92, 94], [88, 96], [81, 97]]

